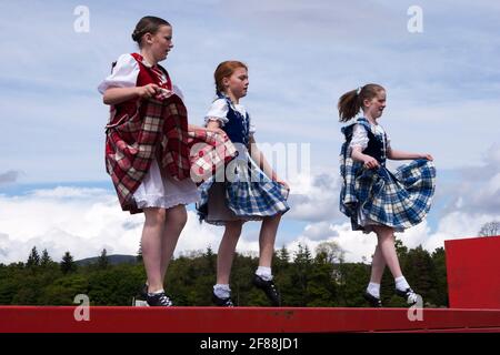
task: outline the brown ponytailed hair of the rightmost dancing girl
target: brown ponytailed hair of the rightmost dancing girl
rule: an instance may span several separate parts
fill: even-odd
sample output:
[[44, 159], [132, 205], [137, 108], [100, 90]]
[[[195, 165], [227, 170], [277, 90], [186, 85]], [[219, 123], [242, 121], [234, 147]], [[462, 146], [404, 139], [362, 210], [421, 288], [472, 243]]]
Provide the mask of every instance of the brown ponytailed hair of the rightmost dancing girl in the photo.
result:
[[373, 99], [383, 90], [386, 89], [379, 84], [366, 84], [364, 87], [346, 92], [340, 97], [339, 103], [337, 104], [337, 109], [339, 109], [339, 121], [347, 122], [354, 118], [363, 106], [364, 100]]

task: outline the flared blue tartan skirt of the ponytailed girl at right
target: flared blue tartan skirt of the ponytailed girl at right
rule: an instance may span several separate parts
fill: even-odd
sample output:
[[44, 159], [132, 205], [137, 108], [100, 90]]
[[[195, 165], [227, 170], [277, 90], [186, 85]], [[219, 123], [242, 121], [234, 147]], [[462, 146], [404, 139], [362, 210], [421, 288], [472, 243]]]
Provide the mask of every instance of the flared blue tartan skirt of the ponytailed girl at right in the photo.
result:
[[356, 179], [358, 206], [370, 220], [401, 231], [420, 223], [430, 210], [436, 168], [419, 159], [394, 173], [387, 168], [363, 170]]

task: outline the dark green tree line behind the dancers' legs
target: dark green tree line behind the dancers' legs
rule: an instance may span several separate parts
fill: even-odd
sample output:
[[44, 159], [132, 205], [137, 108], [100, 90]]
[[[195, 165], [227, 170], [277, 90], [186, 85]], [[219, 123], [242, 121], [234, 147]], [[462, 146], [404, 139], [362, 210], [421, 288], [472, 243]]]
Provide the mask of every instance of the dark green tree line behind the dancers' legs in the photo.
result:
[[[448, 306], [444, 248], [429, 253], [421, 246], [408, 250], [400, 241], [397, 251], [403, 273], [428, 307]], [[258, 257], [237, 254], [230, 286], [237, 305], [267, 306], [266, 296], [251, 285]], [[166, 291], [179, 306], [208, 306], [216, 281], [217, 254], [208, 247], [172, 260]], [[347, 263], [333, 242], [322, 243], [316, 256], [306, 245], [291, 253], [283, 246], [272, 265], [283, 306], [363, 307], [362, 293], [370, 278], [367, 262]], [[140, 252], [136, 262], [112, 265], [106, 250], [91, 264], [79, 265], [67, 252], [54, 262], [47, 250], [31, 250], [26, 263], [0, 264], [0, 304], [73, 305], [77, 294], [86, 294], [91, 305], [131, 305], [146, 281]], [[382, 278], [384, 306], [404, 306], [393, 293], [389, 270]]]

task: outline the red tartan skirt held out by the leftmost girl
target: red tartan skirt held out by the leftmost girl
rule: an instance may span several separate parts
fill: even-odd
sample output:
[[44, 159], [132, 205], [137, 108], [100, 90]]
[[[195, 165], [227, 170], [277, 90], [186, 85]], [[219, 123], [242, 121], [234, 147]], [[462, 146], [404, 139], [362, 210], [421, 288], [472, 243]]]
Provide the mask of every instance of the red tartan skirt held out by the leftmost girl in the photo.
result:
[[144, 100], [137, 114], [112, 122], [107, 126], [106, 168], [122, 209], [131, 213], [140, 212], [132, 195], [153, 159], [173, 179], [191, 176], [201, 183], [237, 155], [234, 145], [217, 133], [188, 132], [187, 110], [177, 95]]

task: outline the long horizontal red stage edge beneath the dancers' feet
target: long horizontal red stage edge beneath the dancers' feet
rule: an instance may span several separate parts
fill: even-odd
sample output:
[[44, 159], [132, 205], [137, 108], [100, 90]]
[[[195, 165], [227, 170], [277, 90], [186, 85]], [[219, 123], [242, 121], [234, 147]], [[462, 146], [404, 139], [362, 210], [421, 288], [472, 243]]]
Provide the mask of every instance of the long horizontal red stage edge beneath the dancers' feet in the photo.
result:
[[2, 306], [0, 332], [333, 333], [500, 329], [500, 310], [424, 308], [423, 320], [413, 322], [409, 321], [407, 308], [90, 307], [88, 322], [77, 322], [74, 310]]

